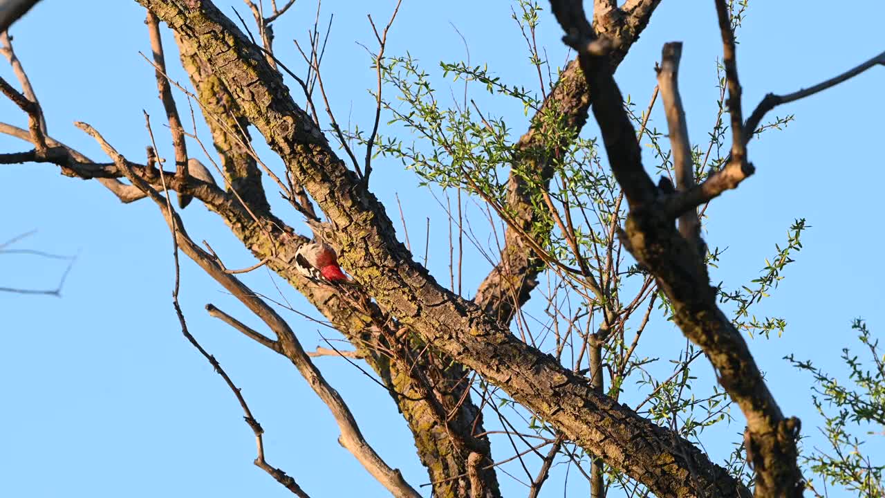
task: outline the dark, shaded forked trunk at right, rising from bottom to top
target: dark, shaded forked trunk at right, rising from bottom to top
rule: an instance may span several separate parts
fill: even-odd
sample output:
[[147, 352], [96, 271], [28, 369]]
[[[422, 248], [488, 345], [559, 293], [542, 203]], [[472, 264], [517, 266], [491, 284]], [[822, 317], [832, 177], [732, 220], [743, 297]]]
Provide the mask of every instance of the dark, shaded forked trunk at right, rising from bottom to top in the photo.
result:
[[[592, 34], [581, 33], [581, 20], [570, 17], [578, 12], [577, 2], [551, 0], [551, 4], [569, 34], [566, 36], [569, 41], [573, 42], [573, 34], [578, 32], [584, 37], [578, 46], [587, 46], [587, 39], [592, 42]], [[717, 0], [726, 46], [729, 109], [738, 128], [733, 135], [741, 142], [740, 85], [735, 70], [734, 37], [730, 16], [725, 12], [723, 19], [723, 9], [727, 9], [725, 3]], [[720, 383], [746, 416], [751, 446], [748, 455], [752, 455], [757, 475], [756, 495], [800, 496], [803, 485], [796, 463], [798, 420], [781, 414], [746, 342], [717, 306], [716, 289], [710, 285], [704, 254], [674, 230], [672, 213], [662, 206], [666, 203], [666, 196], [660, 194], [667, 192], [650, 187], [650, 178], [644, 173], [640, 157], [635, 154], [638, 143], [635, 139], [632, 142], [619, 140], [627, 136], [624, 129], [626, 113], [623, 110], [615, 113], [616, 106], [612, 105], [613, 102], [620, 104], [621, 97], [606, 58], [589, 51], [582, 52], [580, 58], [593, 90], [594, 114], [604, 136], [612, 171], [630, 203], [622, 234], [625, 245], [636, 260], [658, 278], [658, 285], [673, 305], [675, 322], [689, 339], [701, 346], [717, 370]], [[732, 155], [728, 167], [743, 173], [745, 144], [735, 144]]]

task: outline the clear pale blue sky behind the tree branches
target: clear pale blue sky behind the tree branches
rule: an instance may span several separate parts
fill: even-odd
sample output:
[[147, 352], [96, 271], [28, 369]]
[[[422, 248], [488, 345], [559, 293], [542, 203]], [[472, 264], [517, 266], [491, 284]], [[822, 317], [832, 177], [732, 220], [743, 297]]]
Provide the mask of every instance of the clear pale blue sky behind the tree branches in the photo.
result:
[[[219, 4], [228, 13], [234, 5], [250, 18], [240, 2]], [[371, 122], [373, 105], [366, 89], [373, 86], [374, 75], [366, 52], [356, 42], [373, 46], [366, 13], [380, 21], [388, 17], [393, 4], [392, 0], [323, 4], [325, 14], [335, 13], [324, 74], [340, 121], [346, 122], [351, 113], [351, 121], [362, 127]], [[746, 112], [768, 91], [789, 92], [819, 82], [885, 48], [881, 35], [885, 4], [850, 5], [838, 8], [799, 0], [750, 4], [738, 51]], [[304, 65], [290, 40], [306, 40], [314, 7], [300, 0], [275, 27], [278, 56], [299, 70]], [[388, 53], [410, 51], [436, 74], [439, 60], [464, 58], [454, 25], [465, 35], [474, 65], [488, 62], [505, 80], [535, 88], [534, 69], [527, 64], [510, 9], [505, 0], [405, 0], [390, 33]], [[142, 118], [146, 109], [153, 116], [158, 141], [167, 142], [153, 69], [138, 54], [150, 50], [143, 19], [142, 8], [132, 1], [44, 0], [12, 29], [50, 135], [94, 160], [104, 157], [91, 139], [73, 128], [73, 121], [91, 123], [120, 152], [142, 160], [149, 143]], [[546, 10], [539, 35], [552, 61], [565, 59], [559, 28]], [[185, 81], [172, 37], [165, 40], [173, 77]], [[680, 85], [689, 135], [704, 142], [715, 113], [714, 61], [721, 50], [712, 2], [665, 0], [617, 79], [644, 108], [655, 85], [652, 67], [661, 44], [673, 40], [685, 43]], [[0, 64], [0, 74], [12, 79], [5, 63]], [[462, 88], [442, 78], [435, 81], [441, 95], [448, 95], [449, 88]], [[781, 408], [802, 417], [804, 433], [814, 438], [819, 438], [813, 428], [819, 420], [809, 400], [810, 379], [790, 369], [781, 357], [795, 353], [841, 372], [840, 349], [856, 346], [849, 326], [853, 317], [864, 316], [878, 336], [885, 333], [881, 290], [885, 270], [878, 264], [885, 183], [879, 147], [883, 82], [885, 68], [874, 68], [840, 87], [778, 109], [780, 114], [795, 113], [797, 120], [785, 131], [766, 134], [750, 145], [757, 174], [739, 191], [715, 202], [707, 227], [710, 245], [728, 247], [720, 268], [713, 272], [714, 280], [735, 287], [758, 275], [764, 258], [773, 254], [773, 245], [785, 240], [794, 218], [805, 217], [812, 225], [796, 265], [786, 271], [787, 279], [757, 310], [758, 315], [785, 317], [786, 333], [782, 338], [755, 339], [750, 346]], [[290, 88], [296, 87], [290, 84]], [[471, 91], [484, 98], [481, 88]], [[518, 105], [484, 100], [489, 112], [508, 118], [516, 133], [525, 129], [527, 119]], [[187, 115], [181, 94], [178, 101]], [[666, 128], [659, 108], [653, 119], [658, 128]], [[6, 101], [0, 102], [0, 120], [26, 123]], [[205, 128], [200, 129], [208, 140]], [[590, 126], [585, 135], [594, 132]], [[265, 151], [260, 137], [256, 142], [259, 151]], [[171, 155], [167, 145], [160, 147]], [[27, 144], [0, 136], [0, 151], [26, 149]], [[200, 157], [196, 144], [190, 144], [189, 150]], [[272, 154], [264, 157], [279, 171]], [[399, 193], [412, 243], [423, 242], [425, 217], [432, 217], [429, 266], [439, 280], [448, 282], [443, 212], [397, 162], [378, 160], [376, 167], [373, 191], [388, 206], [394, 206], [394, 193]], [[4, 213], [0, 240], [38, 229], [20, 246], [79, 254], [62, 299], [0, 294], [4, 314], [0, 495], [289, 495], [252, 466], [254, 440], [239, 407], [181, 337], [170, 302], [170, 237], [156, 207], [146, 202], [122, 206], [98, 183], [63, 177], [57, 167], [47, 165], [0, 167], [0, 184]], [[268, 188], [275, 191], [269, 184]], [[190, 233], [210, 241], [229, 266], [253, 262], [203, 206], [195, 204], [185, 214]], [[303, 227], [284, 206], [278, 205], [277, 214]], [[469, 296], [489, 265], [475, 251], [466, 261]], [[289, 363], [213, 321], [203, 307], [212, 302], [258, 323], [190, 261], [182, 266], [181, 302], [190, 329], [242, 387], [266, 429], [270, 463], [288, 471], [313, 496], [386, 495], [337, 445], [337, 429], [327, 409]], [[6, 255], [0, 258], [0, 285], [51, 288], [64, 268], [64, 262]], [[245, 280], [259, 291], [276, 293], [264, 270]], [[296, 292], [285, 287], [282, 292], [299, 309], [311, 310]], [[294, 314], [287, 316], [304, 346], [320, 343], [314, 324]], [[678, 349], [684, 341], [663, 323], [648, 335], [643, 339], [648, 341], [647, 351], [674, 345]], [[427, 482], [411, 436], [389, 396], [346, 362], [323, 358], [318, 363], [379, 453], [402, 469], [413, 486]], [[697, 372], [712, 377], [707, 365]], [[716, 459], [725, 457], [735, 434], [743, 431], [736, 412], [738, 421], [704, 439]], [[504, 440], [495, 444], [497, 458], [511, 455]], [[557, 475], [561, 483], [561, 474]], [[499, 479], [505, 495], [526, 493], [504, 474], [499, 473]], [[584, 495], [586, 483], [576, 481], [569, 495]], [[428, 487], [421, 489], [429, 495]], [[558, 484], [549, 486], [544, 495], [561, 493]]]

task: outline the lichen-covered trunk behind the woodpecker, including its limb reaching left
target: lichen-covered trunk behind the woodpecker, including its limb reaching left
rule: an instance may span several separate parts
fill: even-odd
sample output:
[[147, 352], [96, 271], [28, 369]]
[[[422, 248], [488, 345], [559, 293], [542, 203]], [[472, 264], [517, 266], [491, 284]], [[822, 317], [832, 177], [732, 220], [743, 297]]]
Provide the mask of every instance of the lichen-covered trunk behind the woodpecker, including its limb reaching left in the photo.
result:
[[[208, 114], [206, 121], [212, 130], [216, 149], [222, 158], [227, 176], [230, 178], [229, 188], [236, 190], [238, 198], [218, 195], [220, 192], [217, 189], [212, 189], [214, 183], [201, 186], [199, 182], [192, 180], [189, 187], [192, 190], [198, 190], [197, 197], [201, 198], [211, 210], [221, 214], [235, 234], [241, 237], [247, 246], [264, 254], [260, 256], [262, 261], [270, 262], [271, 268], [289, 279], [289, 282], [298, 290], [304, 292], [308, 300], [311, 300], [320, 312], [326, 315], [332, 323], [335, 323], [336, 328], [358, 346], [358, 354], [378, 372], [391, 393], [412, 392], [414, 389], [413, 380], [409, 375], [404, 375], [404, 372], [414, 370], [412, 363], [404, 366], [389, 362], [383, 353], [377, 354], [374, 351], [375, 343], [378, 340], [376, 337], [378, 327], [372, 323], [370, 317], [355, 310], [349, 303], [340, 300], [334, 293], [330, 293], [327, 287], [307, 282], [291, 266], [289, 261], [294, 256], [292, 252], [306, 239], [295, 237], [289, 227], [268, 213], [255, 152], [250, 147], [250, 137], [246, 131], [249, 121], [242, 118], [239, 106], [230, 97], [224, 83], [212, 74], [212, 69], [202, 59], [197, 57], [196, 51], [188, 43], [181, 43], [177, 34], [176, 40], [180, 42], [182, 62], [197, 89], [201, 107], [204, 113]], [[158, 67], [159, 69], [160, 67]], [[165, 73], [162, 70], [158, 72]], [[165, 76], [164, 81], [167, 82]], [[28, 88], [26, 85], [26, 91]], [[23, 140], [32, 139], [26, 130], [2, 123], [0, 123], [0, 132], [18, 136]], [[135, 186], [120, 183], [117, 180], [122, 174], [113, 163], [96, 164], [79, 152], [73, 151], [51, 138], [48, 140], [50, 147], [57, 147], [59, 150], [50, 150], [49, 155], [44, 154], [39, 157], [35, 151], [2, 154], [0, 155], [0, 163], [52, 162], [61, 166], [65, 175], [84, 179], [97, 178], [124, 203], [145, 197], [144, 192]], [[196, 160], [191, 158], [189, 163], [190, 161]], [[162, 186], [156, 172], [150, 174], [150, 168], [134, 164], [130, 166], [139, 171], [139, 175], [152, 182], [155, 188]], [[204, 179], [204, 176], [198, 175], [199, 170], [196, 166], [199, 165], [190, 168], [190, 173], [196, 175], [198, 180]], [[168, 188], [180, 193], [184, 191], [184, 185], [176, 177], [169, 173], [165, 176], [168, 180], [166, 185]], [[208, 178], [211, 176], [206, 175], [205, 179]], [[302, 192], [299, 194], [301, 203], [304, 206], [310, 206], [310, 201], [303, 193], [304, 190], [300, 191]], [[239, 204], [241, 199], [250, 207], [241, 206]], [[256, 217], [256, 213], [258, 217]], [[279, 241], [290, 241], [292, 245], [279, 247]], [[375, 315], [380, 315], [380, 312]], [[386, 325], [384, 326], [386, 327]], [[374, 332], [370, 333], [370, 328]], [[380, 346], [382, 350], [389, 348], [384, 345], [377, 346]], [[414, 347], [415, 352], [426, 349], [421, 344], [414, 345]], [[431, 403], [427, 397], [412, 399], [409, 396], [394, 395], [394, 400], [412, 428], [419, 456], [422, 462], [427, 465], [430, 479], [434, 482], [442, 482], [441, 485], [435, 486], [435, 493], [440, 496], [454, 496], [458, 494], [458, 489], [466, 487], [466, 478], [461, 479], [459, 476], [466, 476], [468, 454], [480, 451], [482, 455], [485, 455], [484, 461], [491, 462], [489, 441], [486, 438], [473, 438], [473, 430], [482, 432], [482, 424], [477, 420], [481, 414], [470, 399], [469, 384], [463, 382], [464, 370], [457, 364], [448, 366], [450, 362], [443, 360], [439, 361], [439, 365], [430, 364], [434, 358], [432, 355], [413, 354], [413, 356], [416, 357], [416, 362], [421, 370], [426, 372], [425, 375], [432, 384], [439, 388], [435, 397], [439, 398], [439, 402], [444, 407], [448, 407], [446, 410], [451, 410], [452, 413], [449, 416], [443, 416], [443, 419], [435, 416], [435, 410], [430, 409]], [[457, 436], [457, 440], [473, 442], [470, 447], [459, 450], [450, 443], [452, 435]], [[483, 470], [478, 475], [485, 481], [483, 488], [488, 493], [487, 496], [490, 498], [499, 496], [495, 472]], [[455, 479], [452, 479], [453, 476]]]

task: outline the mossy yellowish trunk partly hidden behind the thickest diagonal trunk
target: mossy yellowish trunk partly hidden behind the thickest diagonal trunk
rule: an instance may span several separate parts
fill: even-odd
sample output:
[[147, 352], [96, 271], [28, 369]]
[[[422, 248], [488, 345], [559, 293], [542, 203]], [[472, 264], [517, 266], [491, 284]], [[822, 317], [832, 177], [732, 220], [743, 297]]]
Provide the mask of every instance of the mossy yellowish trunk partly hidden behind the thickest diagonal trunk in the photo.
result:
[[[383, 39], [383, 35], [382, 39]], [[204, 113], [212, 114], [214, 117], [207, 117], [212, 132], [212, 139], [215, 143], [216, 150], [221, 156], [221, 162], [227, 175], [231, 178], [231, 188], [235, 189], [240, 196], [252, 206], [254, 212], [268, 214], [264, 191], [261, 189], [260, 172], [256, 165], [254, 152], [250, 150], [248, 144], [250, 137], [247, 132], [249, 121], [243, 117], [242, 107], [235, 102], [234, 97], [227, 89], [227, 85], [219, 76], [212, 72], [212, 67], [207, 64], [196, 51], [194, 43], [185, 37], [175, 33], [176, 43], [181, 51], [181, 61], [189, 74], [190, 81], [196, 88], [196, 93], [200, 101], [200, 107]], [[278, 63], [283, 70], [285, 66]], [[295, 183], [293, 183], [295, 184]], [[293, 190], [296, 191], [299, 202], [302, 206], [306, 206], [310, 214], [313, 213], [311, 201], [304, 188], [295, 185]], [[273, 217], [271, 217], [273, 218]], [[232, 227], [242, 226], [240, 222], [227, 217]], [[280, 220], [273, 218], [273, 226], [285, 226]], [[258, 255], [260, 259], [266, 259], [267, 252], [264, 248], [268, 245], [277, 245], [279, 241], [273, 240], [273, 237], [279, 236], [279, 232], [272, 230], [273, 237], [266, 237], [263, 231], [252, 230], [255, 223], [249, 222], [245, 225], [244, 230], [235, 230], [243, 242], [250, 247], [262, 248], [262, 254]], [[287, 229], [288, 230], [288, 229]], [[281, 260], [289, 261], [290, 254], [298, 244], [304, 243], [306, 239], [299, 237], [292, 240], [290, 244], [282, 248], [277, 248], [281, 252]], [[403, 414], [405, 420], [412, 429], [415, 438], [415, 445], [418, 449], [419, 457], [422, 463], [425, 463], [427, 471], [430, 474], [432, 482], [442, 482], [443, 484], [435, 486], [435, 493], [446, 495], [457, 493], [458, 489], [464, 489], [470, 486], [466, 479], [448, 479], [452, 476], [460, 476], [466, 472], [467, 455], [461, 455], [457, 448], [450, 443], [454, 434], [459, 440], [473, 440], [471, 430], [474, 427], [475, 417], [479, 414], [479, 409], [473, 403], [470, 397], [469, 389], [466, 385], [459, 384], [459, 381], [465, 376], [463, 368], [459, 365], [452, 365], [448, 368], [440, 368], [435, 365], [430, 355], [418, 354], [424, 344], [403, 344], [389, 345], [396, 347], [412, 347], [412, 356], [416, 358], [416, 365], [403, 366], [396, 362], [389, 362], [383, 354], [378, 354], [373, 350], [373, 345], [379, 340], [377, 331], [368, 333], [369, 328], [377, 329], [378, 324], [372, 323], [373, 319], [370, 315], [364, 315], [362, 312], [355, 310], [347, 302], [342, 302], [335, 294], [330, 294], [324, 286], [312, 284], [304, 280], [302, 276], [293, 270], [289, 264], [280, 263], [279, 261], [269, 261], [270, 268], [273, 268], [281, 276], [287, 278], [290, 284], [303, 292], [305, 297], [325, 315], [335, 327], [350, 339], [350, 342], [357, 346], [358, 353], [362, 356], [369, 366], [378, 373], [378, 376], [385, 383], [391, 393], [410, 393], [415, 387], [412, 385], [412, 378], [408, 375], [414, 369], [421, 369], [427, 372], [430, 382], [433, 385], [441, 385], [451, 387], [443, 392], [435, 393], [435, 398], [443, 404], [443, 406], [456, 407], [460, 403], [461, 409], [456, 410], [449, 424], [440, 424], [432, 416], [433, 410], [429, 408], [429, 401], [424, 399], [412, 400], [407, 396], [394, 396], [397, 408]], [[366, 296], [358, 297], [361, 302], [370, 302]], [[380, 310], [373, 315], [381, 315]], [[377, 322], [377, 320], [375, 320]], [[389, 324], [381, 323], [382, 329], [390, 328]], [[385, 335], [393, 335], [395, 330]], [[380, 349], [388, 346], [377, 345]], [[450, 362], [440, 361], [441, 364], [449, 364]], [[481, 427], [481, 424], [476, 424]], [[475, 445], [485, 447], [481, 451], [490, 461], [490, 450], [488, 440], [475, 440]], [[496, 475], [494, 471], [483, 471], [481, 476], [485, 479], [485, 488], [489, 492], [490, 497], [499, 496]], [[454, 491], [453, 491], [454, 490]]]

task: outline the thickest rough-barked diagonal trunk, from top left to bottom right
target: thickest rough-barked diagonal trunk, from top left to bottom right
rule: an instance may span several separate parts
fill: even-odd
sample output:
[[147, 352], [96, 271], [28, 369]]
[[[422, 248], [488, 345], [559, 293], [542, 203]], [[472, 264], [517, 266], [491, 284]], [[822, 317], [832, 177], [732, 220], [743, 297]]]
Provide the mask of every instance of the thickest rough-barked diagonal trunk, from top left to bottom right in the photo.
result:
[[[225, 82], [243, 115], [323, 209], [339, 235], [342, 265], [382, 310], [653, 493], [746, 495], [740, 483], [689, 441], [594, 393], [586, 379], [514, 338], [481, 307], [436, 284], [396, 240], [378, 199], [347, 170], [289, 97], [280, 75], [212, 3], [138, 1], [194, 43], [200, 57]], [[267, 254], [266, 245], [271, 243], [250, 248], [258, 255]], [[281, 249], [291, 253], [293, 248]]]

